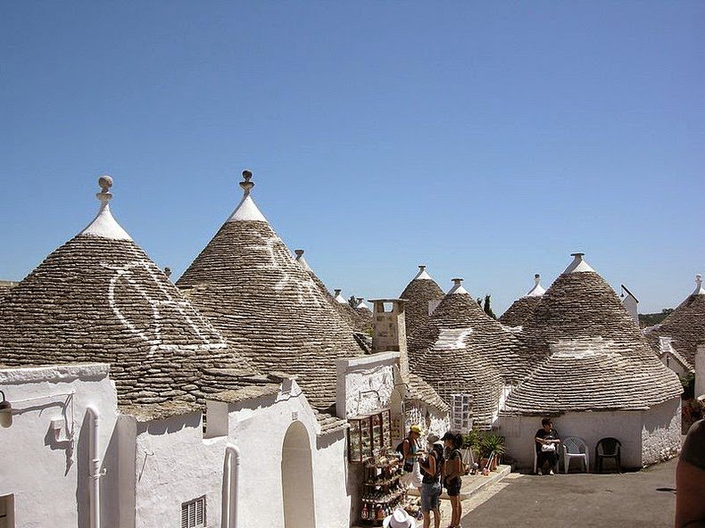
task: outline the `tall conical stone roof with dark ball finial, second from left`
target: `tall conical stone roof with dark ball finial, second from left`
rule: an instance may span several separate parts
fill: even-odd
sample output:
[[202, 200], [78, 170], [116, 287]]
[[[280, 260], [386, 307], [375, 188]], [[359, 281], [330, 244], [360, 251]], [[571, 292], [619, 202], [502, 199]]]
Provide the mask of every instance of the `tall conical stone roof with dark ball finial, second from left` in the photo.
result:
[[336, 400], [336, 359], [361, 354], [352, 330], [245, 194], [178, 280], [188, 298], [263, 372], [297, 375], [316, 408]]

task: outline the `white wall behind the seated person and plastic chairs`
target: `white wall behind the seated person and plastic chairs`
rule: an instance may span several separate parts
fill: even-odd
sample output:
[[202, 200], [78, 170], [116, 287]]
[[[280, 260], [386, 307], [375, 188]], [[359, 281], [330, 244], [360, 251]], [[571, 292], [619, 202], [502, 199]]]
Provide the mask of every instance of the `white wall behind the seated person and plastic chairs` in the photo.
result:
[[[585, 440], [591, 465], [597, 442], [611, 436], [622, 443], [622, 467], [636, 468], [676, 455], [681, 445], [680, 413], [680, 399], [674, 398], [643, 411], [575, 412], [552, 417], [552, 421], [562, 438], [577, 436]], [[507, 454], [518, 467], [534, 466], [534, 438], [541, 428], [541, 418], [502, 415], [499, 419]]]

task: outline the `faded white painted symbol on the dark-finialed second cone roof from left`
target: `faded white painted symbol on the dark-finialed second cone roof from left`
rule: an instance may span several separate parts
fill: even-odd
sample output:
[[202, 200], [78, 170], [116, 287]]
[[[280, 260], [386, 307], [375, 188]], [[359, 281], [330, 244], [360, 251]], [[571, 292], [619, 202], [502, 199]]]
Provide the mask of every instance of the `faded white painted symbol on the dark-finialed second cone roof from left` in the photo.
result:
[[298, 266], [294, 257], [288, 252], [284, 243], [276, 235], [265, 236], [261, 233], [255, 234], [261, 239], [261, 244], [250, 244], [245, 246], [249, 250], [264, 252], [267, 262], [262, 262], [256, 266], [257, 269], [278, 272], [280, 278], [274, 285], [275, 292], [283, 292], [286, 288], [294, 290], [296, 298], [300, 304], [315, 304], [321, 306], [323, 296], [319, 287], [313, 282], [310, 276], [292, 276], [288, 270], [293, 266]]

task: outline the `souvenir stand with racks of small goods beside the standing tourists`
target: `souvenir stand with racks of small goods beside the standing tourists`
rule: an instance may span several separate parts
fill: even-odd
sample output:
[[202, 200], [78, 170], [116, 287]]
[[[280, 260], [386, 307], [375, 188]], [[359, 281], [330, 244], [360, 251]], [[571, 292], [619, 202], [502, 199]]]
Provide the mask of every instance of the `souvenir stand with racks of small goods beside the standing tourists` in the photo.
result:
[[348, 459], [362, 466], [360, 521], [381, 526], [395, 507], [408, 507], [400, 483], [402, 456], [392, 447], [392, 414], [386, 408], [373, 414], [348, 418]]

